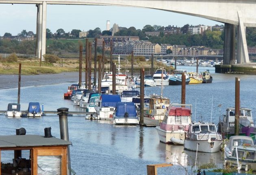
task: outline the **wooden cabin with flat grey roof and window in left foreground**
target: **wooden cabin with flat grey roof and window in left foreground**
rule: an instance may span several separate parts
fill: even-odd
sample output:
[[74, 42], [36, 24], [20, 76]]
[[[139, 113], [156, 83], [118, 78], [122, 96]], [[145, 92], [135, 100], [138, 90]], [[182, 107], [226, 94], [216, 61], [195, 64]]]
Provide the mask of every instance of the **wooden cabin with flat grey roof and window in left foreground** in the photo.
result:
[[39, 135], [0, 136], [0, 175], [67, 175], [71, 144]]

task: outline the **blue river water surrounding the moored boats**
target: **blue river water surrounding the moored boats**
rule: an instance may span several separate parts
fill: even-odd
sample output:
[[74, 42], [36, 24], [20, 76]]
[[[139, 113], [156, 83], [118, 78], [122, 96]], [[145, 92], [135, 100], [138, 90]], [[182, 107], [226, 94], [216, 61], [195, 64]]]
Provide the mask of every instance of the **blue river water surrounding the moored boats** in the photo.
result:
[[[178, 66], [178, 69], [196, 71], [196, 67]], [[192, 104], [193, 121], [218, 123], [219, 116], [226, 108], [234, 107], [235, 78], [240, 77], [241, 107], [252, 109], [255, 116], [256, 77], [253, 75], [233, 75], [215, 73], [214, 67], [199, 67], [199, 71], [209, 69], [213, 76], [211, 84], [186, 86], [186, 103]], [[147, 73], [145, 73], [147, 74]], [[76, 82], [74, 80], [74, 82]], [[0, 80], [1, 82], [1, 80]], [[39, 102], [44, 110], [61, 107], [69, 111], [83, 110], [64, 100], [63, 93], [72, 83], [48, 84], [22, 87], [20, 104], [22, 110], [29, 102]], [[146, 87], [145, 95], [161, 94], [160, 87]], [[165, 86], [163, 96], [171, 102], [181, 102], [181, 86]], [[8, 103], [17, 102], [17, 88], [0, 90], [0, 110], [6, 110]], [[24, 127], [27, 134], [44, 135], [44, 128], [51, 127], [52, 136], [60, 138], [59, 116], [46, 115], [40, 119], [7, 118], [0, 115], [1, 135], [15, 135], [16, 129]], [[255, 119], [255, 117], [254, 117]], [[85, 116], [69, 116], [69, 140], [71, 167], [77, 175], [146, 175], [148, 164], [173, 163], [174, 166], [158, 168], [159, 175], [185, 174], [186, 169], [194, 170], [196, 153], [183, 146], [166, 145], [159, 142], [154, 127], [116, 126], [110, 121], [86, 120]], [[205, 163], [223, 165], [223, 153], [197, 153], [197, 165]]]

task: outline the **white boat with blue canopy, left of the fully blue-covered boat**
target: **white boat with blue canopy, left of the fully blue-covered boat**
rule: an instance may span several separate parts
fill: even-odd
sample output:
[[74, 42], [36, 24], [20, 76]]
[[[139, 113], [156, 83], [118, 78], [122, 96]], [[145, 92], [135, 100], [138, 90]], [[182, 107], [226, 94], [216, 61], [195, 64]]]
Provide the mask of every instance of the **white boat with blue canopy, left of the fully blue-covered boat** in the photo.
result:
[[120, 95], [100, 95], [99, 104], [98, 106], [95, 106], [96, 113], [93, 114], [93, 118], [111, 120], [113, 118], [117, 102], [121, 102]]

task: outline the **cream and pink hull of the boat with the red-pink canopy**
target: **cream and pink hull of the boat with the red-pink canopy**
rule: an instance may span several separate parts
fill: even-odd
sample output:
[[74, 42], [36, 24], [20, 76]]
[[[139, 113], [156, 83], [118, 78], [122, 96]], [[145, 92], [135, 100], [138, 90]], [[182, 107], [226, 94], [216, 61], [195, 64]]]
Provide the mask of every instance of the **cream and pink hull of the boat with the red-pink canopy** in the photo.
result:
[[[167, 143], [167, 144], [177, 144], [178, 140], [184, 140], [184, 131], [178, 130], [178, 131], [166, 131], [160, 128], [160, 126], [156, 126], [156, 131], [159, 136], [160, 142]], [[175, 138], [174, 140], [171, 140], [171, 138]], [[183, 138], [183, 139], [182, 139]], [[177, 142], [174, 142], [177, 141]], [[182, 141], [181, 141], [182, 142]], [[182, 145], [182, 144], [180, 144]]]

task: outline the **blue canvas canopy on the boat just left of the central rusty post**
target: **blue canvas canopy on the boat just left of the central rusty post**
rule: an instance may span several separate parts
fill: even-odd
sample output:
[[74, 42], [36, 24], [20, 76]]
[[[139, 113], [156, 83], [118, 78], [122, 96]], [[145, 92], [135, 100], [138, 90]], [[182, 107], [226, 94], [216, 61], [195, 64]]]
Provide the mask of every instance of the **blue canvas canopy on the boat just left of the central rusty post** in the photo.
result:
[[126, 112], [128, 113], [128, 117], [137, 117], [135, 104], [133, 102], [118, 102], [115, 116], [124, 117]]

